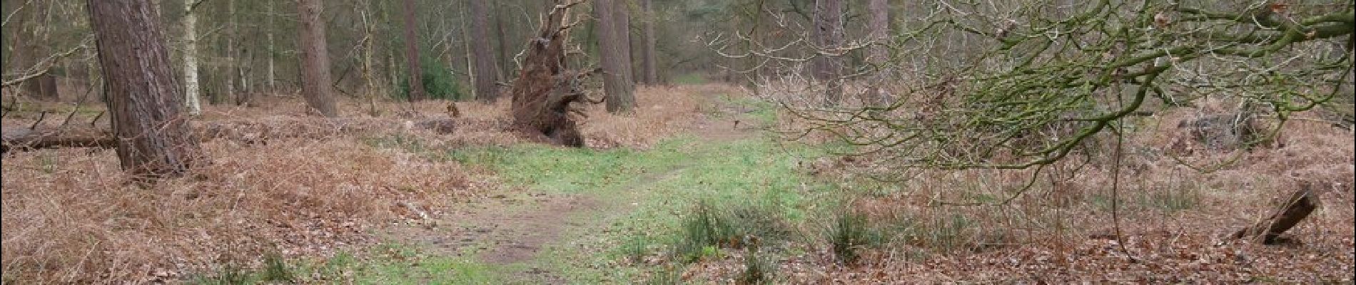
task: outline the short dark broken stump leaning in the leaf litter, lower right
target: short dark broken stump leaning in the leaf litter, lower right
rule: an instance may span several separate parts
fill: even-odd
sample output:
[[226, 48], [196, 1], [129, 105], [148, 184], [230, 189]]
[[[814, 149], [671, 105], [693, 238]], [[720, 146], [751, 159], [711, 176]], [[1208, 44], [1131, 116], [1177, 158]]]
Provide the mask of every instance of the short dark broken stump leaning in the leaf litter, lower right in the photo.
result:
[[1309, 184], [1302, 184], [1299, 190], [1290, 195], [1284, 203], [1267, 219], [1257, 222], [1234, 232], [1234, 239], [1260, 240], [1262, 244], [1276, 244], [1280, 235], [1294, 228], [1300, 220], [1309, 217], [1318, 208], [1318, 195]]

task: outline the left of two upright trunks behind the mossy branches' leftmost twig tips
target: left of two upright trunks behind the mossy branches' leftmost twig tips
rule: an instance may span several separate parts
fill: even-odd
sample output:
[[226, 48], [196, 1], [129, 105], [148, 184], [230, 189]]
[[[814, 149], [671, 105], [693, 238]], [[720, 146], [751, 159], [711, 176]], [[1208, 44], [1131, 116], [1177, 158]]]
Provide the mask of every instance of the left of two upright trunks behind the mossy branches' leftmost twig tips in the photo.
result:
[[[842, 43], [842, 0], [815, 0], [815, 30], [811, 32], [811, 38], [819, 49], [816, 51], [827, 51]], [[823, 81], [826, 85], [824, 105], [835, 105], [842, 101], [843, 90], [838, 78], [842, 72], [842, 58], [838, 55], [818, 55], [811, 65], [814, 69], [812, 78]]]

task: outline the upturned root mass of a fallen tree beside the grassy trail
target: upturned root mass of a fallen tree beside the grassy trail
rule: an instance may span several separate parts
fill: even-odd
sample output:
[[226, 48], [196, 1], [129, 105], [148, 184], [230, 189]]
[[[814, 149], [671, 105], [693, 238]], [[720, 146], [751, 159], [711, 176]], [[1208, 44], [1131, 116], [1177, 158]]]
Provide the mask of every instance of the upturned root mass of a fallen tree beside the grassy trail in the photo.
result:
[[580, 90], [580, 81], [597, 70], [570, 70], [565, 65], [565, 39], [576, 23], [565, 23], [571, 7], [579, 1], [556, 1], [555, 8], [541, 22], [537, 36], [530, 41], [522, 72], [514, 81], [514, 124], [526, 132], [540, 134], [551, 143], [582, 147], [583, 136], [578, 123], [570, 116], [571, 103], [599, 103], [589, 100]]

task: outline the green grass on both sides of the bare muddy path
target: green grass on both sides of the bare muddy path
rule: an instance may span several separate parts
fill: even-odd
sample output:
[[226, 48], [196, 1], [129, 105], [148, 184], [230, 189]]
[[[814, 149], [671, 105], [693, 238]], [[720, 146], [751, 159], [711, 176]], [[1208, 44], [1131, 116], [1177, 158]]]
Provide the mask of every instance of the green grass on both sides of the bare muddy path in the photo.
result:
[[[776, 119], [774, 105], [751, 99], [721, 97], [739, 105], [757, 120]], [[540, 258], [515, 265], [488, 265], [476, 261], [418, 255], [420, 266], [392, 262], [361, 262], [358, 281], [418, 284], [439, 280], [433, 271], [457, 271], [450, 281], [513, 281], [515, 269], [527, 266], [552, 271], [576, 284], [673, 284], [682, 271], [671, 265], [650, 266], [647, 257], [664, 257], [682, 243], [683, 220], [692, 220], [696, 205], [711, 201], [708, 222], [721, 227], [720, 235], [690, 244], [696, 258], [720, 258], [731, 240], [777, 243], [799, 238], [791, 223], [803, 222], [815, 209], [831, 208], [833, 188], [805, 178], [800, 159], [818, 155], [810, 147], [785, 149], [769, 138], [705, 140], [696, 136], [669, 138], [650, 150], [591, 150], [544, 145], [509, 147], [466, 147], [431, 150], [412, 138], [367, 139], [374, 147], [404, 149], [430, 159], [450, 159], [494, 172], [510, 188], [552, 195], [578, 195], [599, 201], [602, 209], [572, 217], [583, 226], [570, 227], [564, 244], [544, 247]], [[716, 242], [713, 242], [716, 240]], [[721, 244], [719, 240], [725, 240]], [[780, 251], [778, 251], [780, 250]], [[762, 247], [750, 261], [750, 278], [765, 280], [774, 269], [781, 246]], [[391, 266], [386, 266], [391, 265]], [[667, 267], [664, 267], [667, 266]], [[518, 270], [521, 271], [521, 270]], [[645, 278], [644, 276], [650, 276]]]

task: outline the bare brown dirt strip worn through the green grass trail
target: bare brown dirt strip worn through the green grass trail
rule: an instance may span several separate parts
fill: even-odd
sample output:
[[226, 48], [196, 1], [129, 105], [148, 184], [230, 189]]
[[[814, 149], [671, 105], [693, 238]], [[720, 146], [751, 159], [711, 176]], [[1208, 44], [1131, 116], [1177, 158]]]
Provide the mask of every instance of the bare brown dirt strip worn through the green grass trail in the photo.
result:
[[[723, 116], [704, 115], [689, 132], [715, 140], [749, 138], [758, 127], [738, 107], [720, 108]], [[739, 122], [739, 123], [736, 123]], [[689, 166], [678, 165], [663, 172], [610, 185], [607, 193], [632, 193], [650, 184], [681, 174]], [[510, 276], [517, 282], [565, 284], [551, 269], [538, 265], [540, 255], [551, 246], [568, 242], [568, 230], [601, 226], [607, 217], [632, 211], [632, 199], [598, 199], [590, 195], [548, 195], [536, 190], [506, 190], [476, 203], [458, 205], [453, 212], [430, 220], [422, 227], [399, 227], [392, 238], [449, 257], [473, 258]]]

